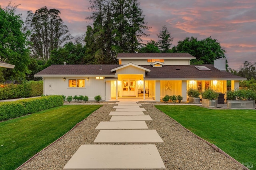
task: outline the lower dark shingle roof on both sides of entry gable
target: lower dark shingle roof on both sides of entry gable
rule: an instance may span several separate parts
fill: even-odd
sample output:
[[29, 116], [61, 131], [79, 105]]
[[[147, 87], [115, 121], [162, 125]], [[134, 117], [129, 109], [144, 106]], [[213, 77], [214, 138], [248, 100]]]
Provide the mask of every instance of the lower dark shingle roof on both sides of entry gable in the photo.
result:
[[[111, 69], [123, 65], [51, 65], [44, 70], [35, 74], [35, 76], [50, 76], [50, 75], [108, 75], [114, 77], [115, 72]], [[226, 71], [220, 71], [212, 64], [204, 64], [210, 68], [210, 71], [200, 71], [195, 66], [198, 65], [165, 65], [163, 67], [152, 67], [149, 65], [140, 65], [150, 69], [146, 73], [146, 79], [225, 79], [225, 80], [246, 80], [243, 77], [233, 75]]]

